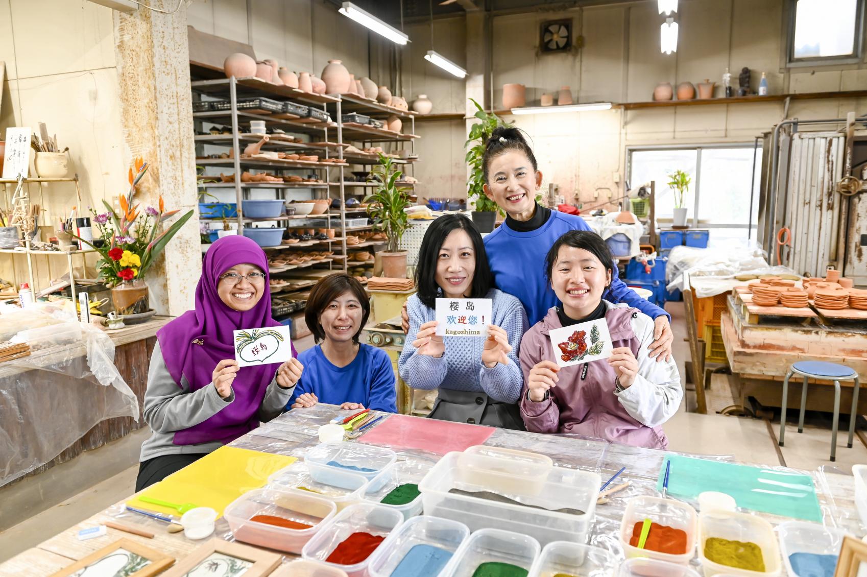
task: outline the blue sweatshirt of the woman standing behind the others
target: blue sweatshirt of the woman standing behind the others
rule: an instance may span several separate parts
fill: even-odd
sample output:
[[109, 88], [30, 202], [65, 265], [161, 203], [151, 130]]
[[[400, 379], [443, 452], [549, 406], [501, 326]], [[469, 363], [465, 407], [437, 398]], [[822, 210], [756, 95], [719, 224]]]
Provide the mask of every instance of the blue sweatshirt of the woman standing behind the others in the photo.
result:
[[[494, 283], [500, 291], [518, 297], [527, 311], [530, 326], [542, 320], [552, 306], [561, 305], [545, 274], [545, 255], [564, 233], [589, 230], [590, 226], [580, 216], [551, 211], [551, 218], [529, 233], [518, 233], [504, 222], [485, 237]], [[617, 276], [616, 266], [611, 285], [602, 298], [612, 303], [626, 303], [650, 318], [665, 315], [671, 321], [668, 312], [630, 289]]]

